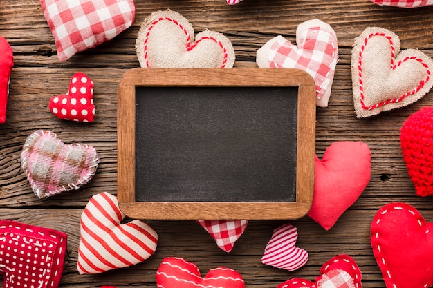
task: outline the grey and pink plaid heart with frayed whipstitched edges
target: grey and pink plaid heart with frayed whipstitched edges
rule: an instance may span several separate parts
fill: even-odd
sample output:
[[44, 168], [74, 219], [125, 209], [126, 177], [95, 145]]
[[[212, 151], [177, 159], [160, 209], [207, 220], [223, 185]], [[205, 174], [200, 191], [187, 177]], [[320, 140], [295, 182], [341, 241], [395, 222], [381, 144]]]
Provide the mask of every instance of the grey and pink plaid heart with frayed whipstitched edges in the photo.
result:
[[21, 151], [21, 168], [39, 198], [80, 188], [92, 179], [98, 164], [93, 146], [64, 144], [51, 131], [35, 131]]

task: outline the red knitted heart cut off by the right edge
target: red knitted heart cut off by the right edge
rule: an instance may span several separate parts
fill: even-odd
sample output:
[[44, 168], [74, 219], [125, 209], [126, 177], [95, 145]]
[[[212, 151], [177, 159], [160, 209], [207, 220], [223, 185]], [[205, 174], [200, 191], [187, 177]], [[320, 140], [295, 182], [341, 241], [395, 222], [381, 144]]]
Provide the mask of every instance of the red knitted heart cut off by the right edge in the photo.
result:
[[418, 196], [433, 195], [433, 107], [410, 115], [400, 132], [400, 146], [407, 173]]

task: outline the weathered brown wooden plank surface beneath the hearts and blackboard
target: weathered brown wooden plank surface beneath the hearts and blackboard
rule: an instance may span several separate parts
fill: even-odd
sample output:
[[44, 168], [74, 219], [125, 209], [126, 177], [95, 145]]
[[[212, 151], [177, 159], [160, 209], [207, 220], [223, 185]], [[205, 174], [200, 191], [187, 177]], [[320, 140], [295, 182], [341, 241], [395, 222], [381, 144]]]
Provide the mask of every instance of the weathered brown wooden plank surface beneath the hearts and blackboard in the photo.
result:
[[[308, 217], [291, 221], [299, 231], [297, 245], [309, 252], [305, 267], [288, 272], [261, 264], [273, 229], [285, 221], [255, 220], [225, 253], [194, 221], [152, 220], [158, 249], [149, 260], [100, 275], [77, 273], [80, 215], [92, 195], [116, 194], [116, 102], [120, 77], [139, 66], [134, 44], [140, 23], [156, 10], [170, 8], [190, 20], [196, 32], [209, 29], [225, 34], [234, 45], [235, 67], [255, 67], [256, 51], [276, 35], [295, 41], [297, 25], [318, 18], [338, 35], [340, 60], [328, 108], [317, 108], [316, 153], [322, 157], [336, 141], [362, 141], [371, 149], [371, 181], [355, 204], [324, 231]], [[432, 198], [415, 195], [400, 150], [400, 128], [409, 115], [433, 104], [433, 92], [396, 111], [357, 119], [351, 89], [353, 39], [368, 26], [396, 32], [401, 46], [418, 48], [433, 57], [433, 7], [404, 10], [376, 6], [368, 0], [244, 0], [228, 6], [225, 0], [136, 0], [136, 21], [121, 35], [97, 48], [57, 59], [56, 48], [38, 0], [0, 1], [0, 35], [11, 44], [15, 67], [10, 81], [7, 123], [0, 126], [0, 219], [17, 220], [68, 234], [68, 253], [60, 287], [156, 287], [155, 273], [163, 258], [183, 257], [201, 272], [218, 266], [237, 270], [246, 287], [276, 287], [293, 276], [314, 280], [322, 264], [346, 253], [363, 273], [364, 287], [385, 287], [369, 244], [370, 223], [380, 207], [407, 202], [433, 221]], [[48, 110], [53, 95], [66, 93], [71, 76], [86, 73], [95, 83], [95, 122], [82, 124], [55, 118]], [[82, 189], [39, 200], [20, 169], [21, 148], [33, 131], [48, 129], [67, 143], [95, 146], [100, 166]], [[343, 175], [344, 177], [344, 175]], [[339, 191], [335, 191], [338, 193]], [[2, 278], [2, 276], [0, 276]]]

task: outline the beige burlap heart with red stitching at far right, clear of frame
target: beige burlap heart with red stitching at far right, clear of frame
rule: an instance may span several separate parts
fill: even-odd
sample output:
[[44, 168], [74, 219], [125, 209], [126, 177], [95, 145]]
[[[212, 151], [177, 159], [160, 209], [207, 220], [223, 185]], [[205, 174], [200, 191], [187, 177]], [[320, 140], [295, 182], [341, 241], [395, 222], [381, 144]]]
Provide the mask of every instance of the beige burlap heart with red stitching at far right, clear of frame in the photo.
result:
[[433, 86], [433, 61], [423, 52], [400, 52], [400, 39], [370, 27], [355, 39], [351, 70], [353, 104], [358, 118], [412, 104]]

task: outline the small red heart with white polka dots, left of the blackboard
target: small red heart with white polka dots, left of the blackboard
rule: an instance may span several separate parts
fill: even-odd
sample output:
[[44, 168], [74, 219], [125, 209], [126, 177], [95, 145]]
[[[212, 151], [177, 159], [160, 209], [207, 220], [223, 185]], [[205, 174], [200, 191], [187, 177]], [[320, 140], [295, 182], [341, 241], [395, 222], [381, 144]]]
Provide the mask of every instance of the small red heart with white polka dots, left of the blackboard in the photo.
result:
[[68, 92], [50, 98], [50, 111], [59, 119], [93, 122], [93, 81], [84, 73], [75, 73]]

